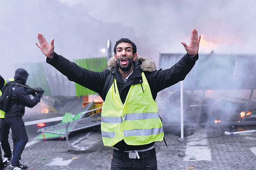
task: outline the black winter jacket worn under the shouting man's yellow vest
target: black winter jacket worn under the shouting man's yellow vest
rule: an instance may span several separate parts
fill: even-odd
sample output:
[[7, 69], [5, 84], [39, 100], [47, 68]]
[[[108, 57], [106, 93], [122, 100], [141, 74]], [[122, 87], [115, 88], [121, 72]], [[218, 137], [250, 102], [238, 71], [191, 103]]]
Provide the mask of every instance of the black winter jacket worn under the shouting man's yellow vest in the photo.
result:
[[[148, 80], [153, 99], [155, 100], [159, 91], [165, 89], [166, 87], [172, 86], [181, 80], [184, 80], [186, 75], [191, 71], [192, 67], [196, 63], [197, 59], [198, 55], [191, 59], [190, 56], [186, 54], [180, 59], [179, 62], [167, 70], [155, 70], [155, 68], [152, 70], [151, 67], [155, 67], [155, 64], [152, 64], [150, 61], [149, 64], [147, 62], [147, 66], [143, 66], [144, 61], [148, 59], [143, 58], [142, 60], [136, 60], [133, 62], [133, 73], [127, 79], [126, 83], [123, 82], [123, 78], [121, 77], [117, 65], [115, 66], [115, 64], [109, 64], [108, 62], [108, 66], [111, 68], [115, 67], [114, 77], [117, 80], [121, 101], [124, 103], [130, 86], [142, 83], [142, 70]], [[111, 60], [113, 62], [113, 58]], [[69, 80], [75, 81], [77, 84], [99, 93], [101, 97], [106, 96], [106, 94], [102, 94], [102, 91], [109, 74], [109, 70], [102, 72], [87, 70], [86, 68], [76, 65], [74, 62], [71, 62], [56, 53], [54, 53], [52, 59], [47, 58], [46, 62], [64, 74]], [[105, 98], [103, 97], [103, 99]], [[120, 141], [119, 143], [115, 144], [114, 147], [117, 147], [119, 150], [138, 150], [148, 148], [153, 144], [154, 142], [144, 146], [128, 146], [124, 141]]]

